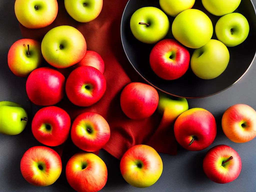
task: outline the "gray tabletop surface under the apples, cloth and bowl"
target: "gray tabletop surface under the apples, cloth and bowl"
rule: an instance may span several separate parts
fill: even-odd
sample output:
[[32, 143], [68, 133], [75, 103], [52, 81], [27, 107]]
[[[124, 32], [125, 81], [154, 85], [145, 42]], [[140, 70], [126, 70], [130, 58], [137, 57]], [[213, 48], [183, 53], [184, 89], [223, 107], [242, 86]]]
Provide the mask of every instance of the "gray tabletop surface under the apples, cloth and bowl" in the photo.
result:
[[[198, 1], [198, 0], [197, 0]], [[26, 110], [34, 114], [37, 109], [31, 109], [28, 101], [23, 78], [16, 77], [7, 65], [7, 53], [10, 46], [16, 40], [22, 38], [14, 13], [14, 0], [1, 0], [0, 2], [0, 101], [10, 100], [18, 102], [26, 107]], [[256, 0], [253, 0], [254, 5]], [[241, 57], [246, 57], [241, 55]], [[228, 90], [203, 99], [188, 100], [189, 107], [201, 107], [209, 110], [218, 123], [218, 133], [214, 143], [226, 144], [233, 147], [242, 159], [242, 170], [239, 177], [228, 184], [216, 184], [211, 182], [202, 170], [202, 160], [210, 148], [200, 152], [181, 150], [176, 156], [160, 154], [163, 160], [163, 174], [156, 184], [146, 189], [138, 189], [128, 185], [122, 178], [119, 170], [119, 160], [105, 151], [100, 152], [100, 157], [108, 167], [108, 182], [101, 191], [256, 191], [256, 139], [236, 144], [231, 142], [222, 132], [221, 116], [231, 105], [245, 103], [256, 109], [256, 65], [250, 68], [247, 74]], [[241, 63], [242, 65], [242, 63]], [[27, 183], [20, 173], [20, 159], [25, 151], [32, 146], [40, 145], [33, 137], [29, 127], [17, 136], [0, 135], [0, 191], [73, 191], [66, 182], [65, 172], [55, 184], [48, 187], [34, 187]], [[63, 167], [65, 162], [63, 162]]]

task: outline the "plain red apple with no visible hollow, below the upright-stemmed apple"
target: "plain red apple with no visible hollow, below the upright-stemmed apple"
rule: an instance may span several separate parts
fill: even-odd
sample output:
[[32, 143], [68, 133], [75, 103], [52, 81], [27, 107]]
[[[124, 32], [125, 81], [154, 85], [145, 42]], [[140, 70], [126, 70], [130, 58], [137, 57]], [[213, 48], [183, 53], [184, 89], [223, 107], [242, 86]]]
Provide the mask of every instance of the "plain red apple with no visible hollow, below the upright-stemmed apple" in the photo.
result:
[[64, 96], [65, 77], [49, 67], [41, 67], [30, 73], [26, 82], [27, 95], [36, 105], [55, 105]]

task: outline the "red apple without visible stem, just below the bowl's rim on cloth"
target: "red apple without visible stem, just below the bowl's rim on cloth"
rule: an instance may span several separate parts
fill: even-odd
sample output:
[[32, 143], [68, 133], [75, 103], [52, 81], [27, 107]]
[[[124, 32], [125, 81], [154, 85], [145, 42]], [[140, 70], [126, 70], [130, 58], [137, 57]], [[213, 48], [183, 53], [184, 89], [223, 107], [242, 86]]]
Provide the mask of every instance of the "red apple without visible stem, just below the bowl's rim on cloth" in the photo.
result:
[[120, 103], [127, 117], [145, 119], [155, 112], [158, 100], [158, 93], [154, 87], [144, 83], [133, 82], [123, 89]]

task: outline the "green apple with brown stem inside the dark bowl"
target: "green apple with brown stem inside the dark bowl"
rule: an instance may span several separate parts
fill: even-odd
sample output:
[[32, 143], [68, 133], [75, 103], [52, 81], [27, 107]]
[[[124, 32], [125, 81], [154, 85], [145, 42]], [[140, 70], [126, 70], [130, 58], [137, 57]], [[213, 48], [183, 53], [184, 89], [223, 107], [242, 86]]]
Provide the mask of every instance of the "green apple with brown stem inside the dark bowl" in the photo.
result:
[[156, 7], [143, 7], [134, 12], [130, 27], [136, 39], [153, 44], [163, 39], [169, 30], [167, 15]]

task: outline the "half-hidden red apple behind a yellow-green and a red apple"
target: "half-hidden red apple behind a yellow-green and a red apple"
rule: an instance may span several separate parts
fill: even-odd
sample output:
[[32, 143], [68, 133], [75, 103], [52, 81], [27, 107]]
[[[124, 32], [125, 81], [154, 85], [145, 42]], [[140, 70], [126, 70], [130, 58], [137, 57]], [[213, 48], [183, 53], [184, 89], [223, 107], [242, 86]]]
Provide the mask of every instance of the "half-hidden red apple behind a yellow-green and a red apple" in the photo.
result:
[[76, 65], [73, 65], [73, 68], [78, 68], [81, 66], [92, 66], [98, 69], [102, 74], [104, 72], [104, 61], [95, 51], [86, 51], [84, 58]]

